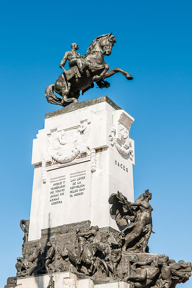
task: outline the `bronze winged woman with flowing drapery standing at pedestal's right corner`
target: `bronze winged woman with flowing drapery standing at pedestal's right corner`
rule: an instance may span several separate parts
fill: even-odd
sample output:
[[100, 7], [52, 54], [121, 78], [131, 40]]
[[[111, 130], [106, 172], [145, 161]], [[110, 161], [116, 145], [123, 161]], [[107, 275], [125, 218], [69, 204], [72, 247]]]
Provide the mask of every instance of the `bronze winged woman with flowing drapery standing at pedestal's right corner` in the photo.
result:
[[[146, 252], [149, 237], [151, 232], [153, 232], [151, 217], [153, 208], [149, 204], [151, 199], [152, 194], [148, 189], [134, 203], [127, 201], [127, 198], [119, 191], [117, 194], [111, 194], [109, 203], [113, 205], [110, 209], [110, 214], [116, 215], [117, 225], [126, 226], [119, 233], [119, 238], [125, 240], [122, 247], [124, 252], [126, 250]], [[129, 225], [130, 222], [128, 221], [132, 222], [132, 224]]]

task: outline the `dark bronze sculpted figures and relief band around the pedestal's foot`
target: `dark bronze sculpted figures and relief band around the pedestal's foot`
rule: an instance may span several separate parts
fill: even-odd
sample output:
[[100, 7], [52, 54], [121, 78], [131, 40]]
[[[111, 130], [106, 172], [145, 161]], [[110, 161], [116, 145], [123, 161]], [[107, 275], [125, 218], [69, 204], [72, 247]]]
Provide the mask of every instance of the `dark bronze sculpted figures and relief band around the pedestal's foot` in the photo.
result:
[[175, 288], [185, 283], [191, 276], [190, 262], [176, 263], [167, 255], [149, 253], [151, 199], [149, 190], [134, 203], [119, 191], [111, 194], [110, 214], [117, 225], [125, 227], [121, 232], [79, 222], [59, 226], [56, 232], [48, 229], [41, 240], [24, 241], [17, 277], [73, 271], [81, 279], [91, 277], [94, 283], [123, 280], [130, 288]]

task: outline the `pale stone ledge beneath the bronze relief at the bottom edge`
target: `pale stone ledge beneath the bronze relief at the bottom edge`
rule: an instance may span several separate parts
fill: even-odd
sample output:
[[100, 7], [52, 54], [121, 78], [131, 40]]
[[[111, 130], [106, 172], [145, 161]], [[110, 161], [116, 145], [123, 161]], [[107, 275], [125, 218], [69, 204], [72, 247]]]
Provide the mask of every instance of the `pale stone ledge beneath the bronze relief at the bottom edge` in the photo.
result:
[[[51, 286], [52, 285], [52, 286]], [[129, 288], [129, 283], [119, 280], [111, 280], [108, 283], [95, 284], [89, 277], [78, 279], [71, 271], [43, 274], [20, 278], [17, 280], [18, 288]]]

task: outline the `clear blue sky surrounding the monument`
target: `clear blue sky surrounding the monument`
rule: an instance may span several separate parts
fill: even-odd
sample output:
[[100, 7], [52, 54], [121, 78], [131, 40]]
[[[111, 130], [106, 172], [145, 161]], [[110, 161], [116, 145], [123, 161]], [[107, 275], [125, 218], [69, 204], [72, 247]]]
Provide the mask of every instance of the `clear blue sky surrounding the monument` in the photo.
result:
[[[22, 253], [20, 219], [29, 219], [32, 140], [44, 127], [47, 85], [72, 42], [85, 54], [99, 35], [113, 32], [107, 95], [135, 118], [135, 199], [153, 194], [151, 253], [192, 261], [191, 249], [191, 1], [7, 1], [1, 4], [1, 286]], [[192, 280], [180, 287], [190, 288]], [[184, 285], [184, 286], [183, 286]]]

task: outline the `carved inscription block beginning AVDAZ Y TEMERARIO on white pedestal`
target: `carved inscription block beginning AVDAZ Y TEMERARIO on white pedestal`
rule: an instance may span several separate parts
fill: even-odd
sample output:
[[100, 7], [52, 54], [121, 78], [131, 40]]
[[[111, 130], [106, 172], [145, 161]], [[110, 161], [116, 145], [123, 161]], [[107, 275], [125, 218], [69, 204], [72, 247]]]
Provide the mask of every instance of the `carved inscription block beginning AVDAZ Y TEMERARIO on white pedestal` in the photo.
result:
[[49, 203], [51, 206], [63, 203], [65, 185], [65, 176], [50, 179]]

